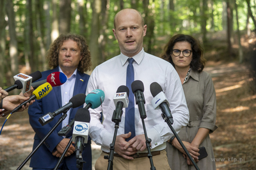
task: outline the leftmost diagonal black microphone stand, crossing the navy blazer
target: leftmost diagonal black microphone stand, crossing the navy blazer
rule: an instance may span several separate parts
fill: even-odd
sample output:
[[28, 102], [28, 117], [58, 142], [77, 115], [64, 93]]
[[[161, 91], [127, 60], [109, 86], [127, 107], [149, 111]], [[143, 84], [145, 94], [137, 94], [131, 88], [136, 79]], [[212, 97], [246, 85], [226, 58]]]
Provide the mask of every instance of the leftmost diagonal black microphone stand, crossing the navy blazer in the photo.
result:
[[[68, 109], [69, 110], [69, 109]], [[68, 111], [67, 110], [67, 111]], [[32, 157], [32, 155], [34, 155], [34, 153], [36, 152], [36, 150], [38, 150], [38, 148], [44, 143], [44, 141], [52, 134], [52, 132], [58, 127], [58, 125], [60, 125], [60, 123], [67, 117], [67, 111], [63, 111], [63, 115], [60, 117], [60, 119], [58, 120], [58, 122], [54, 125], [54, 127], [52, 127], [51, 131], [49, 131], [46, 136], [44, 137], [44, 139], [42, 139], [42, 141], [36, 146], [35, 150], [33, 150], [28, 157], [24, 160], [24, 162], [22, 162], [22, 164], [20, 164], [20, 166], [18, 167], [18, 169], [21, 169], [27, 162], [28, 160]], [[18, 170], [17, 169], [17, 170]]]

